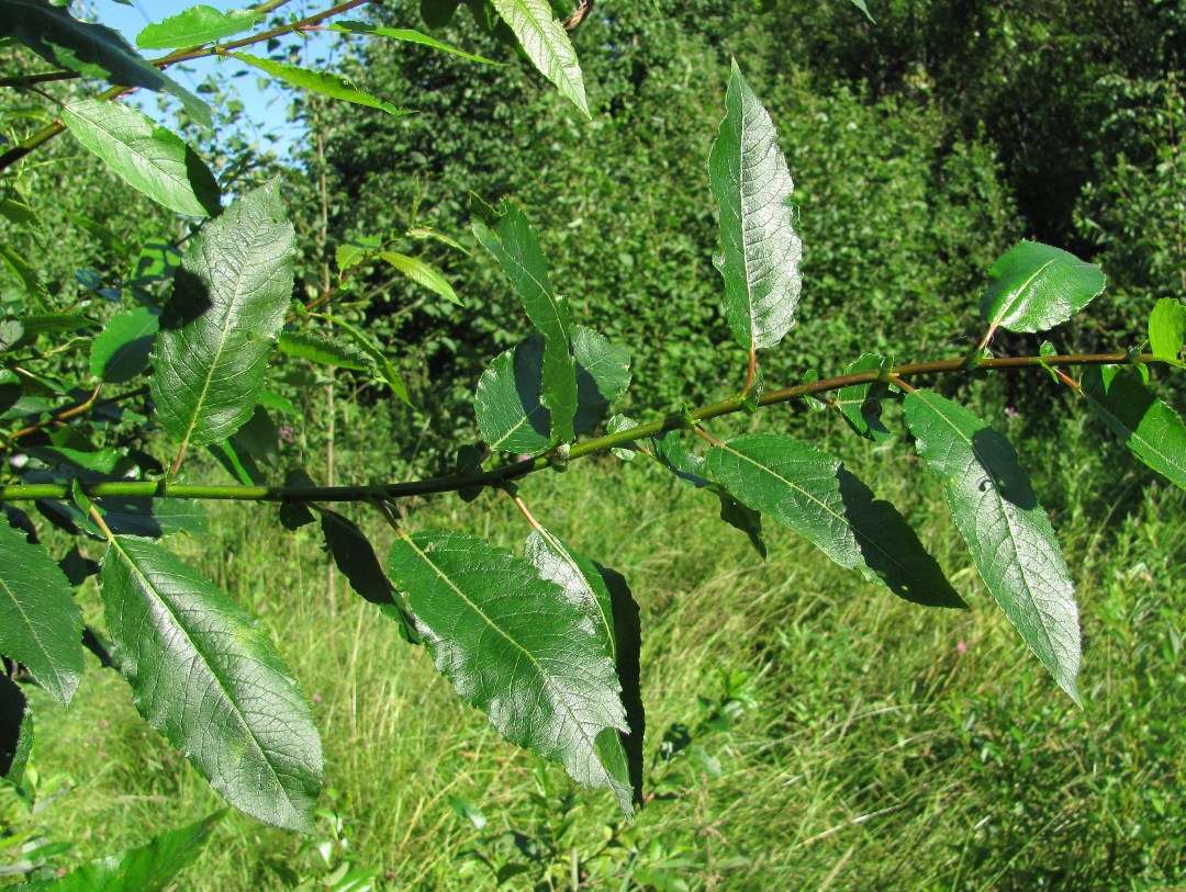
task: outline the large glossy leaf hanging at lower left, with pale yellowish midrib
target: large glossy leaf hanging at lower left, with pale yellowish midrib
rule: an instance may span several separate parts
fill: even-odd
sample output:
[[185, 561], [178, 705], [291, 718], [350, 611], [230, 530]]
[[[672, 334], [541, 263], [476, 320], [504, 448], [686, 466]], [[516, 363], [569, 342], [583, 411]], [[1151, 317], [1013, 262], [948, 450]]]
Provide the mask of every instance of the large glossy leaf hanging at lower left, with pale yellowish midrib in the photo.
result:
[[267, 631], [157, 543], [116, 537], [101, 577], [136, 708], [235, 808], [312, 830], [321, 744]]

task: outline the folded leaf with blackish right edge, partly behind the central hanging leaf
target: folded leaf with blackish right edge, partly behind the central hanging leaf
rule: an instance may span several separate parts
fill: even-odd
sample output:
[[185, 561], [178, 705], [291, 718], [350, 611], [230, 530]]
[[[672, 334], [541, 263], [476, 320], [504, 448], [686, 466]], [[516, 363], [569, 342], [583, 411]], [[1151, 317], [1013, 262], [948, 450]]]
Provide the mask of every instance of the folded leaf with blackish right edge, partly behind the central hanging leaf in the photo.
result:
[[[601, 764], [606, 769], [605, 783], [614, 796], [618, 804], [627, 819], [635, 816], [635, 804], [642, 804], [642, 784], [635, 781], [642, 779], [642, 737], [640, 725], [642, 694], [638, 689], [638, 653], [626, 653], [618, 648], [618, 630], [614, 622], [616, 614], [633, 607], [637, 614], [638, 608], [633, 604], [630, 589], [624, 592], [629, 603], [618, 605], [616, 610], [614, 593], [611, 592], [610, 584], [599, 567], [588, 558], [581, 557], [570, 551], [562, 541], [547, 530], [537, 530], [527, 540], [523, 557], [540, 571], [544, 579], [556, 583], [578, 610], [586, 616], [586, 624], [593, 635], [600, 641], [602, 652], [614, 661], [614, 668], [619, 679], [632, 679], [633, 689], [629, 693], [623, 691], [623, 701], [637, 701], [637, 718], [633, 724], [627, 723], [629, 731], [617, 731], [606, 729], [597, 738], [598, 755]], [[619, 596], [623, 592], [618, 592]], [[627, 717], [631, 710], [626, 708]], [[633, 740], [631, 740], [633, 738]], [[637, 746], [631, 744], [637, 743]], [[631, 763], [636, 764], [631, 764]]]

